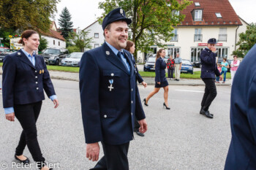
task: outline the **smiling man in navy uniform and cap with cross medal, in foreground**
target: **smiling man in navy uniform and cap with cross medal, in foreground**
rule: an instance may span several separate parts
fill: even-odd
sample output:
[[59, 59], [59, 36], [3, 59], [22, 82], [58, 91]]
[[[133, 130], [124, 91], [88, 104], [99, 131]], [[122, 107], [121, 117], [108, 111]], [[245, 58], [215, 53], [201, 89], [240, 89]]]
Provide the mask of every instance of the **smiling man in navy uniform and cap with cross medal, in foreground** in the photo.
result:
[[121, 8], [113, 9], [102, 22], [105, 43], [83, 54], [80, 64], [80, 100], [86, 137], [86, 157], [104, 156], [94, 169], [127, 170], [129, 141], [134, 118], [145, 133], [147, 124], [136, 85], [135, 68], [127, 46], [128, 19]]

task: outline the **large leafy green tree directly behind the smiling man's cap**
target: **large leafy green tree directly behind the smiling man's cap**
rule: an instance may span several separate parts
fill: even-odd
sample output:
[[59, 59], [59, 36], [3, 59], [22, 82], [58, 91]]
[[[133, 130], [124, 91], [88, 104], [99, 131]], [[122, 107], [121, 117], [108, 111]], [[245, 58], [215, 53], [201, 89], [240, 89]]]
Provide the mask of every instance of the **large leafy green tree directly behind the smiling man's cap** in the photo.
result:
[[[132, 18], [129, 25], [129, 39], [135, 42], [135, 58], [137, 50], [147, 52], [151, 45], [165, 46], [172, 36], [173, 26], [184, 20], [185, 15], [179, 11], [185, 9], [192, 1], [179, 0], [105, 0], [99, 2], [99, 9], [104, 9], [103, 16], [121, 7], [128, 18]], [[99, 18], [102, 21], [102, 18]]]

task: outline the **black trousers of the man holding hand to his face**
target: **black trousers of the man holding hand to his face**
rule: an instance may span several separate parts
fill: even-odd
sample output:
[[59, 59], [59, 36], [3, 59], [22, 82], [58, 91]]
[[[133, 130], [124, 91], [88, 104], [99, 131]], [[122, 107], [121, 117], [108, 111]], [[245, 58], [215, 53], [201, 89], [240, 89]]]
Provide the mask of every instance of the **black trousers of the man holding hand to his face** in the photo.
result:
[[211, 102], [214, 101], [214, 98], [217, 96], [217, 89], [215, 86], [214, 79], [202, 79], [206, 84], [205, 93], [203, 94], [203, 100], [201, 102], [201, 107], [207, 111], [211, 105]]

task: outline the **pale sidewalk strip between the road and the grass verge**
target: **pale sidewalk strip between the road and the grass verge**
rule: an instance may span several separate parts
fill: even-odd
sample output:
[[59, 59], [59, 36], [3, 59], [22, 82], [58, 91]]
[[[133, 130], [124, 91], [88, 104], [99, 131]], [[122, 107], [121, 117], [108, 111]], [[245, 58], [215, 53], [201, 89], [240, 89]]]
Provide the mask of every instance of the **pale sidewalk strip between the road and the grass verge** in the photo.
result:
[[[2, 74], [2, 69], [0, 67], [0, 74]], [[58, 79], [58, 80], [71, 80], [71, 81], [79, 81], [78, 73], [71, 72], [58, 72], [58, 71], [49, 71], [50, 78]], [[155, 85], [154, 77], [143, 77], [144, 82], [148, 83], [148, 85]], [[194, 79], [180, 79], [180, 81], [167, 79], [169, 85], [205, 85], [202, 80], [194, 80]], [[230, 85], [230, 80], [226, 80], [225, 84], [219, 83], [216, 85]]]

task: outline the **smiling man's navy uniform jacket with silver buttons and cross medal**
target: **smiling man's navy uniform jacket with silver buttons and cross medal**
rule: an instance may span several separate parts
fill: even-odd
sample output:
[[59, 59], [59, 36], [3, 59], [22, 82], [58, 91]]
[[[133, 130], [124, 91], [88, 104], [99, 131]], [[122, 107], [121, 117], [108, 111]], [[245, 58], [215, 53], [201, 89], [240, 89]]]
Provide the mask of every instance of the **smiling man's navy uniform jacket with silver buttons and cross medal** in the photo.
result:
[[145, 118], [132, 56], [127, 50], [124, 55], [130, 73], [106, 43], [83, 54], [79, 78], [86, 143], [129, 142], [133, 139], [135, 112], [138, 120]]

